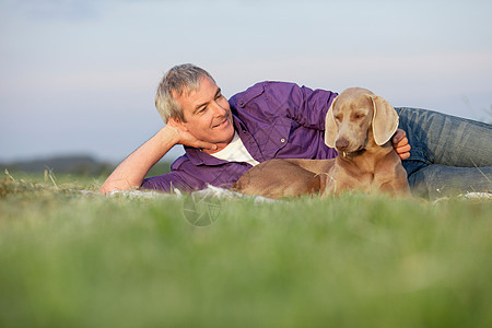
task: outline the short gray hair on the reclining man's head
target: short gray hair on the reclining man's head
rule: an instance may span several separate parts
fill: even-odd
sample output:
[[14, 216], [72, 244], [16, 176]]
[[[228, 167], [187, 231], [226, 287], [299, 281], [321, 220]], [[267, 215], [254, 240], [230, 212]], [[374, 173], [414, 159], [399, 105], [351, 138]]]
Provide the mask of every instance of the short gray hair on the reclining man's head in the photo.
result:
[[215, 82], [209, 72], [192, 63], [175, 66], [164, 74], [155, 94], [155, 108], [165, 124], [171, 117], [186, 121], [183, 108], [175, 97], [183, 95], [185, 90], [186, 92], [197, 91], [202, 78], [209, 78]]

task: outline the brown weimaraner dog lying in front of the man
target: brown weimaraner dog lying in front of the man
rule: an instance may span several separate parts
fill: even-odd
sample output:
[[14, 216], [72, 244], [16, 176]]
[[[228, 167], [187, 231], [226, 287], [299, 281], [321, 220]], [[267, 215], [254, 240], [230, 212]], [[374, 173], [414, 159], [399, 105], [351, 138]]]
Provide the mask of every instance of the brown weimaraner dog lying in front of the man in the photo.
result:
[[270, 198], [343, 190], [407, 196], [407, 172], [390, 142], [397, 128], [398, 114], [388, 102], [366, 89], [348, 89], [326, 116], [325, 143], [338, 151], [336, 159], [266, 161], [232, 189]]

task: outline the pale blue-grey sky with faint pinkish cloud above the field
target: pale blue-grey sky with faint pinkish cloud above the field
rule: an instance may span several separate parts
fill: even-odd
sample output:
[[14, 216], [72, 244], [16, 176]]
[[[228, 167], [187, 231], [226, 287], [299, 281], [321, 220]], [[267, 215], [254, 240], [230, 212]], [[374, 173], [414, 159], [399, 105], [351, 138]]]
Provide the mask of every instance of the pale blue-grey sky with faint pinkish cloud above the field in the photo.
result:
[[265, 80], [362, 86], [490, 120], [491, 13], [490, 0], [0, 0], [0, 162], [124, 160], [163, 127], [155, 90], [184, 62], [226, 97]]

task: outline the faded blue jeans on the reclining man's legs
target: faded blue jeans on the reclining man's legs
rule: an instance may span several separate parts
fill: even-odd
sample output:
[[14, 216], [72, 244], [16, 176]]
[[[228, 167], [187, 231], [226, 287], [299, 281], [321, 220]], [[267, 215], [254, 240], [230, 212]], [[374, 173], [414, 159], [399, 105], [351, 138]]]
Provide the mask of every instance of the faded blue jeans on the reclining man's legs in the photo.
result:
[[491, 192], [492, 125], [418, 108], [395, 108], [412, 150], [402, 161], [412, 194]]

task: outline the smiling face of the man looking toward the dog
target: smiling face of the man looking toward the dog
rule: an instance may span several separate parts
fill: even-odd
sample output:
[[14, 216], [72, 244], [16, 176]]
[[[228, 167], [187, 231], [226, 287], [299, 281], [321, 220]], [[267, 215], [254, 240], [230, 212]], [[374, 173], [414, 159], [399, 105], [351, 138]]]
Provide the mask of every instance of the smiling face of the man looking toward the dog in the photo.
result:
[[195, 138], [212, 143], [230, 143], [234, 137], [231, 107], [221, 90], [209, 78], [200, 79], [197, 91], [176, 97], [183, 108], [181, 128]]

